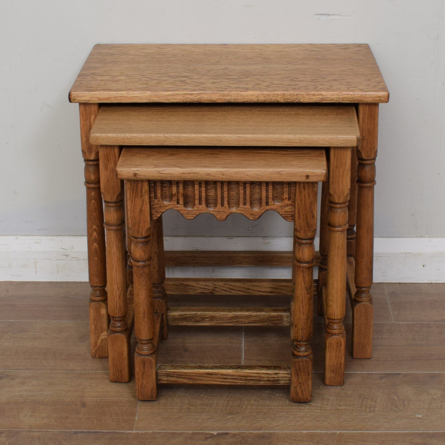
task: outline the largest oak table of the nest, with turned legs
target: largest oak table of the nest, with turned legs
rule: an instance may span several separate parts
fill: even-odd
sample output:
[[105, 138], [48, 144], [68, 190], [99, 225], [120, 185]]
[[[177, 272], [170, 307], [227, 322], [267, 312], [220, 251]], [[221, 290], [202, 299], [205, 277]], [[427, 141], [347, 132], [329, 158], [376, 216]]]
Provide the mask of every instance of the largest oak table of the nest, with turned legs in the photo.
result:
[[[329, 190], [324, 196], [339, 209], [331, 230], [342, 245], [347, 230], [348, 260], [328, 256], [344, 267], [345, 282], [329, 283], [326, 310], [327, 338], [332, 350], [344, 350], [346, 282], [353, 307], [353, 356], [366, 358], [372, 349], [372, 259], [375, 161], [378, 104], [388, 101], [388, 90], [367, 44], [99, 44], [94, 46], [69, 93], [80, 108], [81, 146], [87, 187], [87, 237], [89, 252], [90, 337], [92, 356], [108, 356], [107, 331], [128, 329], [125, 318], [107, 307], [105, 233], [97, 146], [89, 133], [102, 103], [150, 102], [282, 102], [356, 104], [360, 146], [352, 156], [351, 199], [341, 190], [335, 171], [349, 162], [333, 155]], [[355, 150], [353, 150], [355, 151]], [[349, 167], [348, 167], [349, 168]], [[344, 182], [344, 178], [342, 178]], [[358, 187], [356, 186], [358, 185]], [[116, 190], [121, 194], [121, 190]], [[340, 214], [340, 212], [343, 212]], [[322, 212], [327, 222], [328, 215]], [[324, 224], [328, 227], [327, 224]], [[338, 227], [337, 227], [338, 226]], [[341, 227], [340, 227], [341, 226]], [[355, 233], [356, 226], [356, 233]], [[328, 229], [326, 229], [328, 230]], [[327, 236], [320, 234], [321, 267], [328, 267]], [[334, 247], [331, 247], [333, 250]], [[185, 252], [186, 255], [186, 252]], [[322, 274], [323, 276], [323, 274]], [[115, 305], [122, 293], [107, 288]], [[108, 313], [111, 316], [109, 325]], [[331, 362], [327, 353], [325, 382], [341, 384], [344, 364]]]

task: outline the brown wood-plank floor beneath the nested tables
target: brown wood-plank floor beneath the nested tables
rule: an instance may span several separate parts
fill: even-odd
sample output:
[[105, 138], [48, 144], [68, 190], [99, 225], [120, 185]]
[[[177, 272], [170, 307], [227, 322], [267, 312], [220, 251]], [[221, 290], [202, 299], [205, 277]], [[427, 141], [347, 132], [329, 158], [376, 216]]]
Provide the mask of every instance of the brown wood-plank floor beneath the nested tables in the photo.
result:
[[[286, 387], [205, 386], [162, 386], [158, 401], [138, 402], [134, 380], [110, 383], [107, 359], [89, 356], [88, 289], [0, 283], [0, 444], [445, 443], [445, 284], [374, 285], [374, 356], [348, 355], [343, 387], [322, 382], [316, 324], [308, 404], [291, 403]], [[170, 303], [191, 300], [209, 297]], [[271, 305], [283, 303], [275, 297]], [[160, 361], [286, 364], [287, 331], [176, 327]]]

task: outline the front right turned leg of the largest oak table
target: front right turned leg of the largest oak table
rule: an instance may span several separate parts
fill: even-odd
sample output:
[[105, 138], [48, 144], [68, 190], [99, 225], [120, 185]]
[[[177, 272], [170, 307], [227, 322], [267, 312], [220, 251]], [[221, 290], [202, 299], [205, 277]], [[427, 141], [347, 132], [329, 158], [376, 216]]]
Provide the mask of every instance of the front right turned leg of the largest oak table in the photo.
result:
[[361, 143], [357, 167], [357, 234], [355, 284], [352, 307], [352, 356], [372, 355], [372, 266], [374, 255], [374, 185], [378, 134], [378, 104], [359, 105]]

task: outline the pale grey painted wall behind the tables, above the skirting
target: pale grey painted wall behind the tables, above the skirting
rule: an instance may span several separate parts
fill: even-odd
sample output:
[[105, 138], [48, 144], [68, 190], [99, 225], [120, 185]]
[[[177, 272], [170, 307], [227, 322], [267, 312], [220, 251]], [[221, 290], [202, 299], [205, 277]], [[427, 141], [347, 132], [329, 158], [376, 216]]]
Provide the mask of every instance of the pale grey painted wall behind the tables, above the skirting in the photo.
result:
[[[380, 106], [376, 235], [445, 236], [443, 0], [2, 0], [0, 235], [85, 234], [78, 106], [95, 43], [369, 43]], [[178, 223], [178, 224], [177, 224]], [[276, 214], [201, 215], [166, 235], [290, 235]]]

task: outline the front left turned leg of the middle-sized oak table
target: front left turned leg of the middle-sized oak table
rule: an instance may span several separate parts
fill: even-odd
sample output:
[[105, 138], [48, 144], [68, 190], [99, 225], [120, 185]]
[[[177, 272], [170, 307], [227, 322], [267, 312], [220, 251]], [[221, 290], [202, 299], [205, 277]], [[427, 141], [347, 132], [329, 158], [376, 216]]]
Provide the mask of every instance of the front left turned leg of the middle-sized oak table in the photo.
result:
[[127, 323], [127, 281], [124, 234], [123, 188], [116, 178], [121, 149], [100, 146], [101, 190], [105, 202], [107, 290], [110, 325], [108, 331], [109, 375], [112, 382], [131, 378], [130, 335]]

